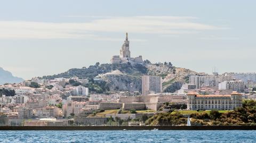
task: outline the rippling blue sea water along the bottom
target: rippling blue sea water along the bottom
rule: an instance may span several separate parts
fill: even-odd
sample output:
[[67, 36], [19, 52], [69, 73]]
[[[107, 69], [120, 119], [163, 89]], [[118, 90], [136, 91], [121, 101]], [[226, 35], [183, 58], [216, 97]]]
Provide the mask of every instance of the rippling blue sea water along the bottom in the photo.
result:
[[256, 142], [256, 131], [0, 131], [1, 142]]

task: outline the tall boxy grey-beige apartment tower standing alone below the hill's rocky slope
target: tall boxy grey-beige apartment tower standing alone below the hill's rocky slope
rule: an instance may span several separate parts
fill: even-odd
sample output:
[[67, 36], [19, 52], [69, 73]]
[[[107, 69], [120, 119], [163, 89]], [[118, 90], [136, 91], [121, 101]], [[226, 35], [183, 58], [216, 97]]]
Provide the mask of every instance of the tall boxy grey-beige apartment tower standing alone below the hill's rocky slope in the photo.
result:
[[142, 76], [142, 95], [162, 92], [162, 78], [151, 75]]

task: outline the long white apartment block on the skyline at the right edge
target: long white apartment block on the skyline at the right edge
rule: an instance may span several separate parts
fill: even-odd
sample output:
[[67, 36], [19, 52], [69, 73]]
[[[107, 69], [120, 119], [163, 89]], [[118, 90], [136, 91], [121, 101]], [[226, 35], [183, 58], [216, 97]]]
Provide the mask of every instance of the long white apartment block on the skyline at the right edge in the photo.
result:
[[247, 81], [256, 82], [256, 73], [225, 73], [225, 75], [229, 75], [237, 80], [242, 80], [245, 83], [247, 83]]

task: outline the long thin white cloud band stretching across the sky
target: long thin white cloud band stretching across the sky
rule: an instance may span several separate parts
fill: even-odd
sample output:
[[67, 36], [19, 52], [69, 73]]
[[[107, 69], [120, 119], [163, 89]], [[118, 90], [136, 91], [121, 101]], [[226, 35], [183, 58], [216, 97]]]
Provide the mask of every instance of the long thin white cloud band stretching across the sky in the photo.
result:
[[69, 18], [87, 18], [88, 22], [34, 22], [0, 21], [0, 38], [80, 38], [106, 39], [97, 32], [132, 32], [159, 35], [193, 34], [202, 30], [221, 27], [193, 22], [198, 18], [189, 16], [130, 16], [100, 17], [67, 15]]

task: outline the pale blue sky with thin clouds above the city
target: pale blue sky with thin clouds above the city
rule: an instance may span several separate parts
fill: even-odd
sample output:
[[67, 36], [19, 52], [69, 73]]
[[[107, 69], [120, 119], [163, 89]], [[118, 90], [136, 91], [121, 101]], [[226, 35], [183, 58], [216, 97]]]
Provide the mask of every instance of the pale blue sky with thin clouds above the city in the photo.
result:
[[0, 67], [30, 79], [131, 56], [196, 72], [256, 72], [256, 1], [1, 1]]

